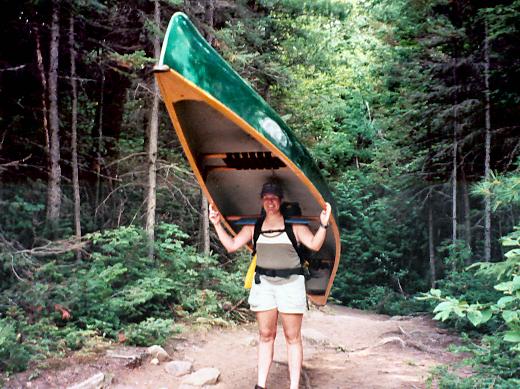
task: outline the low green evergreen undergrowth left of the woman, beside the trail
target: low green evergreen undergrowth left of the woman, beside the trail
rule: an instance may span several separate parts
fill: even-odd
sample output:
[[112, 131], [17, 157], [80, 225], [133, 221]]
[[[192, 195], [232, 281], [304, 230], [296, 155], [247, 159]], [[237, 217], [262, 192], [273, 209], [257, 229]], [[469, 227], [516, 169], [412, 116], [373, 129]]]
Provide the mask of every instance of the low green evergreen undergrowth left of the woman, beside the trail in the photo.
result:
[[30, 284], [17, 283], [0, 295], [9, 318], [1, 321], [7, 369], [79, 349], [92, 337], [123, 334], [131, 344], [163, 343], [175, 333], [176, 318], [233, 320], [226, 304], [245, 296], [241, 273], [186, 245], [187, 234], [177, 225], [157, 225], [153, 260], [146, 234], [135, 226], [86, 238], [87, 259], [56, 257], [33, 269]]

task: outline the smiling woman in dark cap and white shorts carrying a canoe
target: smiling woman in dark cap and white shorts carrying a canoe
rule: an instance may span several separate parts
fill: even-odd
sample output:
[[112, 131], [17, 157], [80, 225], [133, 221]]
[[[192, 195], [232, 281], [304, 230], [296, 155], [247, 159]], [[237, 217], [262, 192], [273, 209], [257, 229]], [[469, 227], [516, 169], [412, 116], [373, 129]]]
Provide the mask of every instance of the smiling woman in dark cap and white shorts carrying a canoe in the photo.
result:
[[[287, 344], [290, 388], [297, 389], [303, 361], [301, 326], [306, 309], [305, 278], [301, 273], [298, 253], [284, 230], [285, 222], [280, 211], [282, 187], [276, 182], [267, 182], [262, 187], [260, 197], [265, 219], [261, 226], [262, 233], [256, 242], [257, 275], [262, 268], [273, 269], [274, 272], [255, 277], [248, 300], [251, 310], [256, 313], [259, 332], [258, 382], [255, 389], [265, 388], [273, 360], [278, 315], [281, 317]], [[309, 249], [318, 251], [325, 241], [330, 213], [331, 206], [325, 203], [325, 209], [320, 214], [320, 227], [315, 234], [306, 225], [294, 224], [296, 240]], [[234, 252], [252, 241], [254, 226], [244, 226], [232, 237], [222, 226], [221, 215], [213, 205], [210, 206], [209, 218], [228, 252]], [[287, 272], [288, 269], [295, 271]], [[276, 276], [276, 270], [283, 276]]]

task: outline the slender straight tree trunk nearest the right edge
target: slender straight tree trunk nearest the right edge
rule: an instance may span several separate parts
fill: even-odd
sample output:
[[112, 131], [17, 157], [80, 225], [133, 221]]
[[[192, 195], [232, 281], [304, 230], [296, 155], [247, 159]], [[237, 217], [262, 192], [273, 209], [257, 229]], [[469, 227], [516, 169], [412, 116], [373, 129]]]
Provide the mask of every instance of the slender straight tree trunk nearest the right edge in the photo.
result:
[[[484, 179], [489, 180], [491, 162], [491, 93], [489, 89], [489, 35], [488, 24], [485, 22], [484, 38], [484, 83], [486, 96], [486, 159], [484, 162]], [[484, 260], [491, 260], [491, 199], [488, 194], [484, 197]]]

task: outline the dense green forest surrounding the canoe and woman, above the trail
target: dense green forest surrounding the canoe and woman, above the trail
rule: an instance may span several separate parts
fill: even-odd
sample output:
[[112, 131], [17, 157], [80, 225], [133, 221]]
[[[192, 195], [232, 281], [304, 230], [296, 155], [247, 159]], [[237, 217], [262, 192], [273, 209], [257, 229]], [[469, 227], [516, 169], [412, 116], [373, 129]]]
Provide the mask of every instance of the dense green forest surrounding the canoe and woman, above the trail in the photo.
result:
[[248, 254], [210, 233], [154, 84], [176, 11], [333, 189], [332, 298], [435, 310], [475, 372], [443, 385], [517, 385], [518, 0], [2, 1], [0, 369], [247, 320]]

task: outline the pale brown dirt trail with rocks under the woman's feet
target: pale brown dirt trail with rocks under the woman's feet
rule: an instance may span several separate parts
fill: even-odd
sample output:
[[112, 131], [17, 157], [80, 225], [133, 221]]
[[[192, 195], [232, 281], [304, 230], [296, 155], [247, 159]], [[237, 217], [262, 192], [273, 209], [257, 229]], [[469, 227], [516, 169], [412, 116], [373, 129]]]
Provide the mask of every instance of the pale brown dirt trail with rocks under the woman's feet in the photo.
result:
[[[457, 339], [425, 317], [389, 317], [331, 305], [307, 312], [302, 333], [305, 355], [300, 387], [305, 389], [425, 388], [433, 366], [456, 360], [446, 347]], [[207, 388], [248, 389], [255, 385], [255, 345], [256, 328], [251, 324], [183, 334], [165, 349], [174, 360], [193, 361], [195, 370], [218, 368], [218, 384]], [[267, 387], [287, 388], [285, 340], [280, 326], [274, 360]], [[72, 358], [66, 366], [43, 372], [29, 387], [66, 387], [100, 371], [112, 374], [113, 389], [181, 387], [182, 377], [172, 377], [162, 364], [154, 366], [145, 361], [131, 369], [124, 367], [126, 362], [107, 356], [87, 361]], [[26, 382], [26, 376], [18, 376], [16, 384], [11, 381], [8, 387], [28, 387]]]

